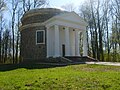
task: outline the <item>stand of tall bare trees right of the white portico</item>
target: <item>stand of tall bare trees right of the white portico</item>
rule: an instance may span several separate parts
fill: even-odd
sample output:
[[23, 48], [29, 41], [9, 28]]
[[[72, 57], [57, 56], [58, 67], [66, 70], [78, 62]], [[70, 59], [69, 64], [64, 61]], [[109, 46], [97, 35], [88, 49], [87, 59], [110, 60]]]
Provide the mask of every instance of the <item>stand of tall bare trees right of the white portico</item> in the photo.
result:
[[[92, 50], [94, 58], [97, 57], [104, 61], [106, 49], [107, 61], [110, 61], [112, 57], [113, 61], [116, 61], [120, 57], [120, 50], [118, 50], [120, 45], [119, 8], [119, 0], [102, 0], [102, 2], [88, 0], [80, 9], [82, 16], [88, 22], [88, 33], [90, 34], [88, 37], [91, 39], [91, 49], [89, 45], [89, 50]], [[110, 32], [112, 33], [110, 34]], [[113, 56], [110, 55], [111, 52], [113, 52]]]

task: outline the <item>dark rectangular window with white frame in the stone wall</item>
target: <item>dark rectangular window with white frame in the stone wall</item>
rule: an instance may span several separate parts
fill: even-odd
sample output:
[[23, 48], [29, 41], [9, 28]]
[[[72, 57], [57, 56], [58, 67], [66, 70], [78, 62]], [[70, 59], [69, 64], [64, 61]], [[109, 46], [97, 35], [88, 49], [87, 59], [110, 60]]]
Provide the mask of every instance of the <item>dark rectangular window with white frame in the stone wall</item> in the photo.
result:
[[36, 31], [36, 44], [44, 44], [45, 43], [45, 31], [37, 30]]

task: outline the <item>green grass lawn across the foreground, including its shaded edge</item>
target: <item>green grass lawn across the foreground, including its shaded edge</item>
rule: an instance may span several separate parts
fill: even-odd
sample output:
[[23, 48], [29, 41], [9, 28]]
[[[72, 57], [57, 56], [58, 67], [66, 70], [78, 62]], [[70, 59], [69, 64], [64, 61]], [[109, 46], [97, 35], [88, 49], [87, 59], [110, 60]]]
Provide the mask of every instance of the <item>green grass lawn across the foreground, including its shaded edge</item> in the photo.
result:
[[120, 90], [120, 67], [2, 65], [0, 90]]

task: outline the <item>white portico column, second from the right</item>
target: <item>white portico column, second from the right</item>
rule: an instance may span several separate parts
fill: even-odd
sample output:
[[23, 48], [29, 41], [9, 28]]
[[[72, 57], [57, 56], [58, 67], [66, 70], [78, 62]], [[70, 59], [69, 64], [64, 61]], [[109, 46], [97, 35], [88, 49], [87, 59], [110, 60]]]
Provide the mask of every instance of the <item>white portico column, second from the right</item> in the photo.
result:
[[79, 35], [78, 35], [78, 30], [75, 29], [75, 55], [80, 56], [79, 53]]

